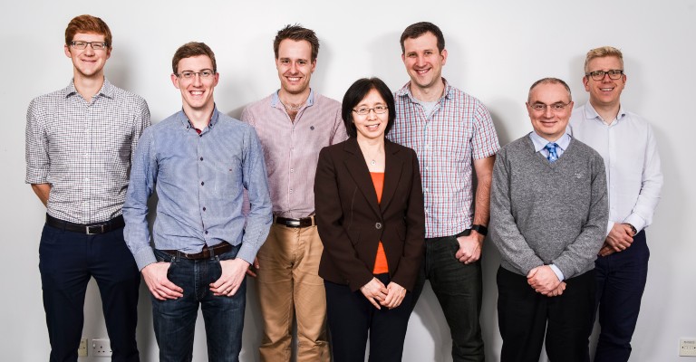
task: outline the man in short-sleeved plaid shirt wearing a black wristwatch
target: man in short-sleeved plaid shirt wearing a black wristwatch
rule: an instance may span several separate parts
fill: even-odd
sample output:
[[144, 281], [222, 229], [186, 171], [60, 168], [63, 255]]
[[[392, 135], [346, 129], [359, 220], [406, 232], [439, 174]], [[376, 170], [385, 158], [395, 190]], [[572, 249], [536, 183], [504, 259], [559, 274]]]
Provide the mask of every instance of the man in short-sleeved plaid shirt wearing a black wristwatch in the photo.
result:
[[449, 324], [453, 360], [482, 361], [479, 257], [498, 135], [484, 105], [442, 78], [447, 50], [438, 26], [408, 26], [401, 52], [411, 81], [395, 93], [396, 121], [388, 138], [415, 149], [420, 161], [426, 253], [414, 300], [429, 279]]

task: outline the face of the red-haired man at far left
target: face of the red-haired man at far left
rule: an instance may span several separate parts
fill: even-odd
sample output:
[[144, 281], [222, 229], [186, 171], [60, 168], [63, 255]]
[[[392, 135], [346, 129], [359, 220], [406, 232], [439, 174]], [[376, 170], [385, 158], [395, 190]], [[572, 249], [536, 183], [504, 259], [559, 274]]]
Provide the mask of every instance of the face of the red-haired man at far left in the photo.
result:
[[[104, 35], [75, 33], [73, 42], [103, 43]], [[101, 77], [106, 60], [111, 56], [111, 48], [95, 51], [90, 44], [82, 50], [75, 49], [73, 45], [65, 45], [64, 51], [65, 55], [73, 60], [75, 75], [80, 75], [84, 78]]]

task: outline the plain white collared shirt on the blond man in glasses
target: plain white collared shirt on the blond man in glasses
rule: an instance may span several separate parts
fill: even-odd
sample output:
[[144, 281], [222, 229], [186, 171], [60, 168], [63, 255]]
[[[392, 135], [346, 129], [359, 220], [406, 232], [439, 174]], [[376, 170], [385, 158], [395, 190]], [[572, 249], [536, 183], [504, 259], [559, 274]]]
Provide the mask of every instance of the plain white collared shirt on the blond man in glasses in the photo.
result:
[[621, 107], [607, 125], [587, 102], [573, 110], [570, 130], [604, 158], [609, 186], [607, 233], [614, 223], [632, 224], [639, 232], [650, 225], [662, 190], [660, 155], [650, 124]]

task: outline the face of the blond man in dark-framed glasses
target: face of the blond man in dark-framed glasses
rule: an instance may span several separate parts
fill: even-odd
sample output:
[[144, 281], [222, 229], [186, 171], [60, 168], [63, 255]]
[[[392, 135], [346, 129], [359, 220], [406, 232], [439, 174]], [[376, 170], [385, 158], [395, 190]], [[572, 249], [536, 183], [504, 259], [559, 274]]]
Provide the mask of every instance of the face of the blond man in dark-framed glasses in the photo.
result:
[[[592, 71], [623, 71], [623, 66], [619, 58], [606, 56], [591, 60], [587, 64], [587, 70], [588, 73]], [[609, 78], [609, 74], [604, 74], [601, 81], [594, 81], [591, 76], [585, 76], [583, 84], [585, 84], [585, 90], [590, 92], [590, 103], [593, 106], [617, 106], [623, 87], [626, 85], [626, 75], [622, 74], [621, 78], [615, 81]]]

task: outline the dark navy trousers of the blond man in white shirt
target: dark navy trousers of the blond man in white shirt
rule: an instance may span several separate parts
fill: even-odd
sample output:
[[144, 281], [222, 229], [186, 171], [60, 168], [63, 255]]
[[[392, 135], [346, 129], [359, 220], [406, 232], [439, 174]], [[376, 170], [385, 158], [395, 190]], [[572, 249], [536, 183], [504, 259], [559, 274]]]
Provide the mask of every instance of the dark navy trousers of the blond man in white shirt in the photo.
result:
[[631, 338], [648, 278], [648, 259], [650, 250], [641, 231], [628, 249], [600, 256], [594, 262], [601, 327], [594, 362], [622, 362], [631, 356]]

